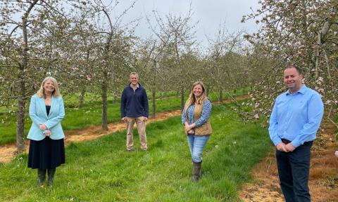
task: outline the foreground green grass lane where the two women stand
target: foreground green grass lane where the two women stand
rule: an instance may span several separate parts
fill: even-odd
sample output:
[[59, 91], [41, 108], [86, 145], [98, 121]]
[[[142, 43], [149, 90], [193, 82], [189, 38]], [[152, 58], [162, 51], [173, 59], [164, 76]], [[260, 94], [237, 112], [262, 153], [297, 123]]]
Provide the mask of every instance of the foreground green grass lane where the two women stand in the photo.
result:
[[72, 143], [54, 187], [37, 188], [27, 155], [0, 166], [0, 201], [238, 201], [251, 168], [270, 151], [267, 130], [245, 124], [227, 105], [213, 107], [213, 135], [204, 149], [203, 177], [192, 183], [192, 163], [180, 116], [147, 126], [149, 152], [125, 152], [125, 131]]

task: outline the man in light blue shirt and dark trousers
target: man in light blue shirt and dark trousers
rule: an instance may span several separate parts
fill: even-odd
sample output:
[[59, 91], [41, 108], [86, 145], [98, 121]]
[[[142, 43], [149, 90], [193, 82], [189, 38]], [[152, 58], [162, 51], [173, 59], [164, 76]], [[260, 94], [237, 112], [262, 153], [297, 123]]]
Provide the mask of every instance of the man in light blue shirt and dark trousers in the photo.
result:
[[308, 189], [311, 146], [315, 140], [324, 105], [319, 93], [306, 87], [298, 67], [287, 66], [284, 85], [270, 116], [270, 139], [276, 146], [280, 186], [285, 201], [311, 201]]

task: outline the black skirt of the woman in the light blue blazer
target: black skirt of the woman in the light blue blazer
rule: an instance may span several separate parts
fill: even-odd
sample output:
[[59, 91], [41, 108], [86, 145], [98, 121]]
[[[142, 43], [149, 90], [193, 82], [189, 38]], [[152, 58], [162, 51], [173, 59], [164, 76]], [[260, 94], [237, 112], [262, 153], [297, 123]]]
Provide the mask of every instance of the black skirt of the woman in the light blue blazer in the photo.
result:
[[65, 143], [63, 139], [30, 140], [28, 168], [49, 169], [65, 163]]

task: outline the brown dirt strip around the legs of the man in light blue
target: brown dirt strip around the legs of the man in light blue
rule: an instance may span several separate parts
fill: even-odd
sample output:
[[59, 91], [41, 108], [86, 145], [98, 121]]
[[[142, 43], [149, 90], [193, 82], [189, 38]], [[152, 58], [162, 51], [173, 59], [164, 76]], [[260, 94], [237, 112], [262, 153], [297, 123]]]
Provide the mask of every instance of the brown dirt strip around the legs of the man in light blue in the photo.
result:
[[[312, 147], [310, 168], [311, 201], [338, 201], [338, 158], [334, 151], [334, 128], [323, 123], [325, 133], [319, 135]], [[240, 198], [246, 202], [282, 202], [284, 197], [277, 177], [275, 149], [253, 168], [253, 183], [244, 184]]]

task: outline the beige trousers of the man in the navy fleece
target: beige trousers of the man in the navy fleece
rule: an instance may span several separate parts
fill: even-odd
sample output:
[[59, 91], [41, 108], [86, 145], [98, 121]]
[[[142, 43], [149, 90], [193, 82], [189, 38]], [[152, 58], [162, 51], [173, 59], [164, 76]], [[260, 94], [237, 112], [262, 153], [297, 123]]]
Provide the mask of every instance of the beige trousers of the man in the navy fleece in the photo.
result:
[[127, 150], [132, 150], [134, 142], [132, 140], [132, 130], [136, 122], [137, 132], [139, 133], [139, 142], [141, 142], [141, 149], [146, 150], [146, 122], [143, 121], [144, 116], [139, 117], [126, 117], [127, 118]]

